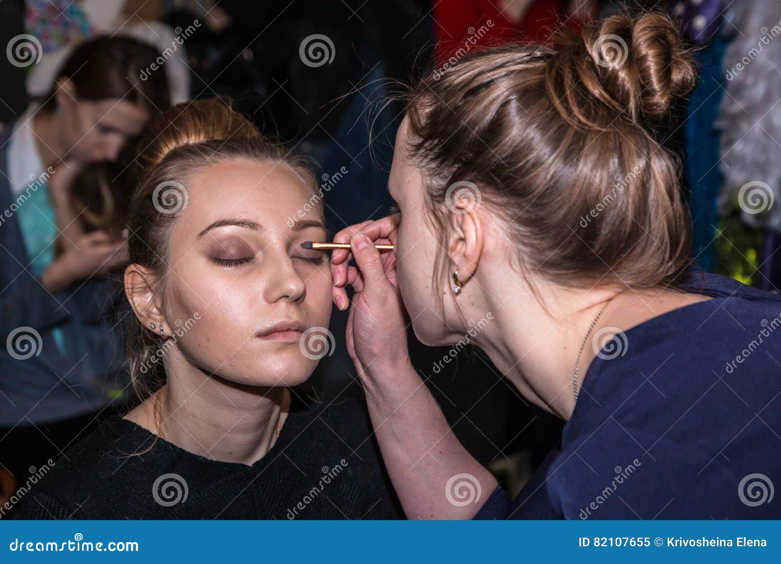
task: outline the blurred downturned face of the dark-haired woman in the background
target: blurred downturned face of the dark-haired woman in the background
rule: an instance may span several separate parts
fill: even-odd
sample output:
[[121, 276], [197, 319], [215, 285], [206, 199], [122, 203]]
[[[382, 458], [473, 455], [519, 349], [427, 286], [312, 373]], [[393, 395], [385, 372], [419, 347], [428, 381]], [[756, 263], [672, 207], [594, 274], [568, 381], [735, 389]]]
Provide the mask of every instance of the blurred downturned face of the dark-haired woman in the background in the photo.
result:
[[146, 109], [125, 100], [70, 101], [61, 107], [68, 156], [84, 163], [116, 161], [149, 120]]

